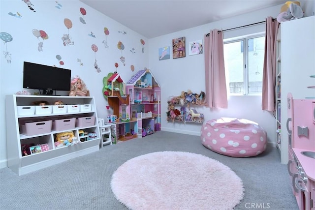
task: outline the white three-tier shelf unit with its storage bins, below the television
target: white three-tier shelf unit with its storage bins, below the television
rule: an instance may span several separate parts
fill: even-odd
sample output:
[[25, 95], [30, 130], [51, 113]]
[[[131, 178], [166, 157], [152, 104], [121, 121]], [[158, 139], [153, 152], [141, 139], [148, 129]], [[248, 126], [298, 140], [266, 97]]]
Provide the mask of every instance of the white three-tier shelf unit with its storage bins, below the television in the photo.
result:
[[[57, 100], [63, 101], [68, 109], [45, 106], [51, 109], [42, 111], [40, 106], [30, 106], [34, 101], [54, 104]], [[27, 111], [23, 111], [23, 107], [28, 107]], [[36, 113], [36, 109], [40, 112]], [[8, 167], [19, 176], [99, 150], [94, 97], [6, 95], [5, 110]], [[53, 126], [57, 120], [64, 124]], [[74, 124], [69, 125], [72, 120], [75, 120]], [[55, 145], [56, 135], [67, 131], [72, 131], [81, 142], [63, 147]], [[33, 145], [42, 146], [43, 150], [30, 153], [28, 147]], [[22, 147], [28, 150], [23, 153]]]

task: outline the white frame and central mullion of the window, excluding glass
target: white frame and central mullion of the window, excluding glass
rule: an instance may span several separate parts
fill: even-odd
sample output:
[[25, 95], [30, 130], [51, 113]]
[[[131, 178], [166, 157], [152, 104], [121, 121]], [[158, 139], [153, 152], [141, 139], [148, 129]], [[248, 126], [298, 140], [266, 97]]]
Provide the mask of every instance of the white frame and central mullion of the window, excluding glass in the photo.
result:
[[[259, 38], [259, 37], [265, 37], [266, 33], [260, 32], [260, 33], [255, 33], [255, 34], [249, 34], [249, 35], [244, 35], [240, 37], [232, 37], [228, 39], [223, 39], [223, 46], [224, 44], [229, 44], [233, 42], [241, 42], [243, 41], [243, 80], [244, 80], [244, 91], [243, 93], [231, 93], [228, 92], [229, 95], [231, 96], [243, 96], [243, 95], [262, 95], [262, 92], [257, 92], [257, 93], [250, 93], [249, 92], [249, 70], [248, 70], [248, 63], [249, 63], [249, 47], [248, 47], [248, 40], [253, 39], [253, 38]], [[262, 77], [262, 75], [261, 75]], [[227, 89], [229, 90], [229, 81], [226, 81]]]

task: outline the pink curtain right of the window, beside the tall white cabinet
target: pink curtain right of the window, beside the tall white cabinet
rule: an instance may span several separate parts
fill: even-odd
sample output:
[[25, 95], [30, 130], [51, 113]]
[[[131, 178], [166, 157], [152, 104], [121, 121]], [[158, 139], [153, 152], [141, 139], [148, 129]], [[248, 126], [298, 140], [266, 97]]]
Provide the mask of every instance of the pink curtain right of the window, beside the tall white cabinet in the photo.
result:
[[265, 58], [262, 73], [262, 110], [275, 111], [276, 87], [276, 41], [279, 22], [272, 17], [266, 18]]

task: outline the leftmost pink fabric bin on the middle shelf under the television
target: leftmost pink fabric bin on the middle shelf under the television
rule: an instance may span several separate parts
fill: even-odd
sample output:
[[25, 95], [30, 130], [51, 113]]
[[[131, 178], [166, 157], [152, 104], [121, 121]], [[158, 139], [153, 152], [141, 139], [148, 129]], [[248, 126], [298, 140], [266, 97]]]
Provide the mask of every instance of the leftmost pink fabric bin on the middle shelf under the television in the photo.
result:
[[25, 122], [20, 125], [21, 133], [27, 136], [50, 133], [52, 126], [52, 120], [37, 121], [37, 122]]

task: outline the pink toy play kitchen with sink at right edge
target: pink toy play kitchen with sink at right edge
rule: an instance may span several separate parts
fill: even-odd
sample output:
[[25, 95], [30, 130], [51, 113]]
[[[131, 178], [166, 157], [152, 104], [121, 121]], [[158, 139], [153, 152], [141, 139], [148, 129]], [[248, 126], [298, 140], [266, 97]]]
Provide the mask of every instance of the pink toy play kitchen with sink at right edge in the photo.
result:
[[315, 210], [315, 98], [287, 97], [288, 173], [300, 210]]

